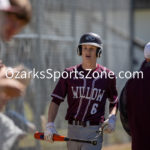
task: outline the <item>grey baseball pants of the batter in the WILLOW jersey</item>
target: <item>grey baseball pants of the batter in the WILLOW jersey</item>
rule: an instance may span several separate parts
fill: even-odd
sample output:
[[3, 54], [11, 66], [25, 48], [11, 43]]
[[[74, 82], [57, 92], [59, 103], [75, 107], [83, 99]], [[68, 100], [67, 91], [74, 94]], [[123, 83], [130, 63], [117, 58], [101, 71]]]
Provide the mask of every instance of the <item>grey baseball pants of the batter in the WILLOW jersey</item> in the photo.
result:
[[[100, 126], [87, 126], [83, 127], [80, 125], [70, 125], [68, 124], [68, 137], [74, 139], [84, 139], [92, 140], [98, 133]], [[92, 145], [89, 143], [80, 143], [80, 142], [67, 142], [68, 150], [101, 150], [102, 148], [103, 137], [100, 135], [97, 138], [97, 145]]]

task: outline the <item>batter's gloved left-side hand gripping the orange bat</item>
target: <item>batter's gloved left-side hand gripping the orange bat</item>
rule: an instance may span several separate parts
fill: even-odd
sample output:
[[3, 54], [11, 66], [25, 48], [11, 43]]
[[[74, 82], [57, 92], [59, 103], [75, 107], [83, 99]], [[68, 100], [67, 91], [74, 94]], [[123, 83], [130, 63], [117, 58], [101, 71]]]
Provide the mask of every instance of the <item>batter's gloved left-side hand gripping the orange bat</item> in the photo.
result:
[[46, 125], [46, 130], [44, 132], [44, 139], [46, 141], [49, 141], [50, 143], [53, 143], [53, 134], [57, 134], [57, 131], [55, 129], [54, 122], [49, 122]]

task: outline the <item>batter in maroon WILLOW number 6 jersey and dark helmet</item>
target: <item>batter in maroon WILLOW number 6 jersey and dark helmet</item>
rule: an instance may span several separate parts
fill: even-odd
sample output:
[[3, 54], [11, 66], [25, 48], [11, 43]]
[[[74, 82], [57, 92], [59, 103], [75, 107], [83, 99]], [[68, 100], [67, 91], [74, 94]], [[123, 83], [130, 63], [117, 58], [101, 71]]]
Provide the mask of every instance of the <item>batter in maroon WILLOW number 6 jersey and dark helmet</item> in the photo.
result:
[[[44, 132], [45, 140], [53, 142], [53, 134], [57, 133], [54, 125], [58, 108], [67, 96], [68, 109], [65, 119], [68, 121], [68, 137], [75, 139], [94, 139], [102, 124], [104, 131], [111, 133], [115, 130], [117, 112], [116, 79], [107, 75], [110, 70], [97, 64], [101, 56], [102, 42], [99, 35], [86, 33], [81, 36], [77, 49], [82, 57], [82, 63], [65, 69], [72, 76], [60, 78], [53, 93], [48, 112], [48, 123]], [[102, 75], [102, 72], [106, 73]], [[95, 78], [93, 75], [102, 75]], [[88, 77], [87, 77], [88, 75]], [[104, 122], [106, 99], [110, 101], [110, 114]], [[98, 144], [68, 142], [68, 150], [100, 150], [102, 136], [98, 137]]]

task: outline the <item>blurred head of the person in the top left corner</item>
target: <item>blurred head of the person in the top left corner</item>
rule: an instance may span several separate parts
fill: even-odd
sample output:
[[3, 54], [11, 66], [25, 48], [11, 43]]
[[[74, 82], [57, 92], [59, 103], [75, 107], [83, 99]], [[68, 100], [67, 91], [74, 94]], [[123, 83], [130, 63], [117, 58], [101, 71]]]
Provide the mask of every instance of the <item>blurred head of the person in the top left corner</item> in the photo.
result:
[[29, 0], [0, 0], [0, 37], [9, 41], [31, 19]]

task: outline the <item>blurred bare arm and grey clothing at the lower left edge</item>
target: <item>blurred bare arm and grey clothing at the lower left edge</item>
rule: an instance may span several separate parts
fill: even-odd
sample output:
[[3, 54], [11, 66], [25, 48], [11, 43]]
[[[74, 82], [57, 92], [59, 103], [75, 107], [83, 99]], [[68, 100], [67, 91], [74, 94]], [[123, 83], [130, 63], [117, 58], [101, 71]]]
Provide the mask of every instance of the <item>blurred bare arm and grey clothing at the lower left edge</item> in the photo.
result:
[[28, 73], [25, 66], [11, 68], [14, 73], [13, 76], [7, 73], [8, 76], [12, 76], [9, 79], [6, 77], [7, 69], [10, 67], [0, 63], [0, 147], [1, 150], [17, 150], [18, 142], [26, 132], [34, 132], [35, 126], [15, 111], [8, 111], [7, 116], [3, 112], [9, 101], [24, 95], [30, 78], [22, 78], [22, 73]]

